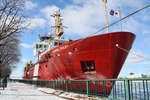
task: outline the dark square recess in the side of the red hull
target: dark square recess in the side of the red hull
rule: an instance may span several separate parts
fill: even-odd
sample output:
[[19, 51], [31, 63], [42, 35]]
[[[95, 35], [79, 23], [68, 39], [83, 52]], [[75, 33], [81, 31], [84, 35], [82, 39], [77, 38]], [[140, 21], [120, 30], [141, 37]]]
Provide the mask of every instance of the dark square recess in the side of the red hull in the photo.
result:
[[90, 61], [80, 61], [82, 72], [90, 72], [95, 71], [95, 63], [94, 60]]

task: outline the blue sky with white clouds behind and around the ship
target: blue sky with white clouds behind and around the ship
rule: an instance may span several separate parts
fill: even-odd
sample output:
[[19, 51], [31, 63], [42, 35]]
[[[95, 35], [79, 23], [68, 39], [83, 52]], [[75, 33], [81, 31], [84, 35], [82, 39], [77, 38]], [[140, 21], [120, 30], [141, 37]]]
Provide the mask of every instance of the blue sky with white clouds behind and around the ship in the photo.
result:
[[[149, 0], [107, 0], [107, 11], [120, 9], [121, 17], [150, 4]], [[20, 35], [20, 62], [11, 76], [23, 76], [25, 63], [35, 60], [33, 43], [38, 41], [39, 34], [49, 34], [54, 18], [50, 17], [60, 9], [65, 29], [65, 39], [80, 39], [106, 26], [104, 4], [102, 0], [26, 0], [24, 14], [27, 30]], [[119, 20], [119, 17], [108, 15], [109, 23]], [[122, 67], [119, 76], [136, 74], [150, 75], [150, 8], [147, 8], [122, 21], [122, 30], [136, 35], [133, 47]], [[120, 31], [120, 23], [110, 27], [110, 32]], [[106, 34], [107, 30], [97, 34]]]

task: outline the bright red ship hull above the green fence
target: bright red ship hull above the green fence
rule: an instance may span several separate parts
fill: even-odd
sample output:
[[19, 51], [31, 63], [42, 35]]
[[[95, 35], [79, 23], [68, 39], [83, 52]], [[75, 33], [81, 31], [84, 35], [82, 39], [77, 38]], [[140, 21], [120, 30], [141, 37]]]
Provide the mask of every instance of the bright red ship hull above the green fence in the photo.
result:
[[38, 76], [33, 65], [24, 72], [24, 79], [117, 78], [134, 39], [130, 32], [114, 32], [67, 42], [42, 55]]

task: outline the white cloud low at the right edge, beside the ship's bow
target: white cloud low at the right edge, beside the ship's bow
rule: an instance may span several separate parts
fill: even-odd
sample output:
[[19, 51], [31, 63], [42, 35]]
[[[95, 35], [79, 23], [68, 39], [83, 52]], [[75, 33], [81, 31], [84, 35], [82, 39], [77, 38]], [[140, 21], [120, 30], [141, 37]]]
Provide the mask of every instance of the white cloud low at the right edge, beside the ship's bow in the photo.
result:
[[150, 60], [150, 56], [140, 50], [130, 52], [127, 57], [127, 63], [141, 63], [146, 60]]

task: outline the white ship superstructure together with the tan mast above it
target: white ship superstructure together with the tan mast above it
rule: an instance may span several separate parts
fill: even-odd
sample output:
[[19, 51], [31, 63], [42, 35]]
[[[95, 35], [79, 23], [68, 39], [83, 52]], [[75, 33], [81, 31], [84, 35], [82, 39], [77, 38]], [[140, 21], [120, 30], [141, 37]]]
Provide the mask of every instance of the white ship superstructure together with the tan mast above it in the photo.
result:
[[62, 19], [60, 18], [60, 10], [54, 14], [54, 17], [55, 25], [51, 26], [51, 28], [55, 28], [55, 37], [53, 37], [51, 34], [49, 36], [40, 36], [40, 41], [34, 43], [33, 52], [36, 60], [39, 60], [40, 56], [44, 52], [67, 42], [67, 40], [61, 38], [61, 35], [64, 33], [63, 27], [65, 26], [63, 26]]

